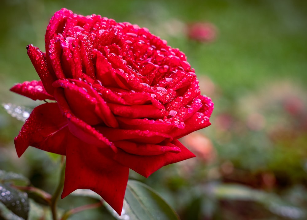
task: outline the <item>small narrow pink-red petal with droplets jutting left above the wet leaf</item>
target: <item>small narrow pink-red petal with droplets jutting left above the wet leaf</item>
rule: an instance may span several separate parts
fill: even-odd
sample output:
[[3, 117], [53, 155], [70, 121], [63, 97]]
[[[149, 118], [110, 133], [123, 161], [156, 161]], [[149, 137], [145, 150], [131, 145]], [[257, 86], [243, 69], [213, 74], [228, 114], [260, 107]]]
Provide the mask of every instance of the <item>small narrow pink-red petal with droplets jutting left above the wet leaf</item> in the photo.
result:
[[23, 83], [18, 83], [10, 90], [33, 100], [54, 100], [54, 97], [46, 92], [41, 81], [33, 80], [31, 82], [25, 81]]

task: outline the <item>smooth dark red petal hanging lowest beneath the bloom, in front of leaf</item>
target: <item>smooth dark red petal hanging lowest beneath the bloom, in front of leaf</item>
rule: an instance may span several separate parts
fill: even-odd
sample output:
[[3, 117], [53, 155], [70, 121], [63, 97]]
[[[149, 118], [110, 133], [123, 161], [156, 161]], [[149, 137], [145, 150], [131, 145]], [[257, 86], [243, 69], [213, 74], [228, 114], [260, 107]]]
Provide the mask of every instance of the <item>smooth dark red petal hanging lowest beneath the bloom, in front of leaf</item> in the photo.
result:
[[91, 189], [121, 214], [129, 168], [111, 159], [110, 149], [87, 146], [77, 138], [70, 141], [74, 145], [67, 147], [62, 198], [76, 189]]

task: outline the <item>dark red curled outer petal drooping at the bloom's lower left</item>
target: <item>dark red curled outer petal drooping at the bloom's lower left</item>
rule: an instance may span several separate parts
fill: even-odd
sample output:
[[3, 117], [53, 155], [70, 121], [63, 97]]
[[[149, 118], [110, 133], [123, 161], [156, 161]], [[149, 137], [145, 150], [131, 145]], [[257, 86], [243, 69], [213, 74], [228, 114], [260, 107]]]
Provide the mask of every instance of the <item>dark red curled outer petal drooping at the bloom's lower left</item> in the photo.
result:
[[29, 146], [44, 151], [65, 155], [69, 134], [66, 119], [57, 103], [45, 103], [33, 109], [30, 117], [15, 138], [15, 147], [20, 157]]

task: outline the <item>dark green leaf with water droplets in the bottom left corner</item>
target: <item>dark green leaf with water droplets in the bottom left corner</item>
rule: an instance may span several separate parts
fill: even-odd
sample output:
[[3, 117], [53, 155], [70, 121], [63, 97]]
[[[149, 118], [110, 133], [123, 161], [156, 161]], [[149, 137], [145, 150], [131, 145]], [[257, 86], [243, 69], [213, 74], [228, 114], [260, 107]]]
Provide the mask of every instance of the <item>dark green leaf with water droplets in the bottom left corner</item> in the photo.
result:
[[29, 202], [28, 195], [9, 184], [0, 184], [0, 201], [17, 216], [28, 219]]

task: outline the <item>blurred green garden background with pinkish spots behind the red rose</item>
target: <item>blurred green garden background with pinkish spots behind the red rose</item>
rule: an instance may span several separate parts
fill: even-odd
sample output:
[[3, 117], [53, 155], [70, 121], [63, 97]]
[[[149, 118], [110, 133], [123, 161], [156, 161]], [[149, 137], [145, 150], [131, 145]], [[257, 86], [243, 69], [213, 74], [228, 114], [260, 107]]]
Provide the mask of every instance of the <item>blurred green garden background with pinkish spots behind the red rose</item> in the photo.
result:
[[[182, 139], [196, 158], [131, 178], [160, 192], [181, 219], [307, 218], [307, 1], [1, 0], [1, 103], [40, 104], [9, 89], [38, 80], [25, 47], [44, 51], [49, 19], [63, 7], [138, 24], [166, 39], [187, 55], [202, 93], [215, 103], [212, 125]], [[196, 22], [215, 37], [188, 37]], [[0, 109], [0, 169], [52, 192], [58, 161], [34, 148], [17, 158], [13, 140], [22, 124]], [[67, 201], [84, 203], [68, 198], [64, 209]], [[103, 218], [112, 219], [105, 210], [72, 219]]]

